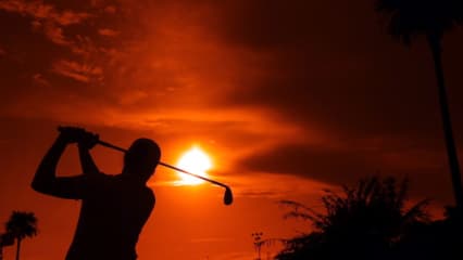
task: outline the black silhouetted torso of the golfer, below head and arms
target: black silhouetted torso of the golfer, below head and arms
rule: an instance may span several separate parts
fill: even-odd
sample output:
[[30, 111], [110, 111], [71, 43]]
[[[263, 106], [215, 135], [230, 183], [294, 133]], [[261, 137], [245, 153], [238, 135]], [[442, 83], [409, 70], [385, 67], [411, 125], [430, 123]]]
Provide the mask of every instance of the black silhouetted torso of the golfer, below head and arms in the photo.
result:
[[154, 205], [151, 190], [113, 177], [97, 182], [83, 199], [66, 260], [136, 259], [138, 235]]

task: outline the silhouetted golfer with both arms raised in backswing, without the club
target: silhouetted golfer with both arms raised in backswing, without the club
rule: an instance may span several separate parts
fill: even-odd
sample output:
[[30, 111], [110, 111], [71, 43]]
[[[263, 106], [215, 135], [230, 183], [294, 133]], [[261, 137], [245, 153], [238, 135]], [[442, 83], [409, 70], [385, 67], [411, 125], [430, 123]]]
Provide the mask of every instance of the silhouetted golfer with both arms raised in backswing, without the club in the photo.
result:
[[[66, 127], [40, 162], [33, 181], [37, 192], [61, 198], [82, 199], [80, 216], [66, 260], [132, 260], [138, 235], [155, 198], [147, 187], [161, 151], [149, 139], [136, 140], [124, 157], [118, 176], [101, 173], [89, 150], [98, 135]], [[57, 177], [58, 161], [67, 144], [77, 143], [83, 174]]]

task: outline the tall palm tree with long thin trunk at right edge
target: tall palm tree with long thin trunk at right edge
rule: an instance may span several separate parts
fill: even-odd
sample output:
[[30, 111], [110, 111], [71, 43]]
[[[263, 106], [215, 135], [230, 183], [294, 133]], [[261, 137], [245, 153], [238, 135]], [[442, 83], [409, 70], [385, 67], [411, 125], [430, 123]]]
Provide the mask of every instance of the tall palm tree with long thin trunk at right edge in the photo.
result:
[[459, 209], [463, 209], [463, 188], [442, 69], [443, 34], [463, 22], [461, 0], [377, 0], [376, 11], [388, 17], [389, 34], [409, 46], [412, 38], [423, 35], [429, 44], [437, 78], [440, 113], [446, 139], [453, 193]]

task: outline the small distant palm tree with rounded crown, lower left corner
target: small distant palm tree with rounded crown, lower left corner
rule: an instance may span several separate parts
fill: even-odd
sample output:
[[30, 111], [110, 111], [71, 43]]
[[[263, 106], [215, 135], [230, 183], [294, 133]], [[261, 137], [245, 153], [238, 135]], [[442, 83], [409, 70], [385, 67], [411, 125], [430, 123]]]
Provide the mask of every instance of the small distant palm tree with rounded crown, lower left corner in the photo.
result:
[[20, 260], [21, 242], [37, 235], [37, 218], [34, 212], [13, 211], [5, 227], [16, 239], [16, 260]]

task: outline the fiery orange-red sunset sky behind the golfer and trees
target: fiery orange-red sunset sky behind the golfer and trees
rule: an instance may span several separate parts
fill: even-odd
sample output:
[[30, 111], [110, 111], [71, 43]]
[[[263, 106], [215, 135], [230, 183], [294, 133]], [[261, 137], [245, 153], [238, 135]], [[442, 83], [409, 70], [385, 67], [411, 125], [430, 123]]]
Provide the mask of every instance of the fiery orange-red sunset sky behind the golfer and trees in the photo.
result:
[[[72, 239], [78, 203], [29, 188], [59, 125], [125, 147], [152, 138], [167, 162], [199, 144], [211, 174], [234, 188], [225, 207], [221, 188], [173, 187], [176, 176], [159, 169], [140, 259], [251, 259], [252, 232], [288, 237], [306, 225], [285, 221], [276, 202], [316, 208], [322, 188], [378, 172], [450, 203], [424, 42], [392, 41], [370, 0], [309, 2], [0, 1], [0, 220], [36, 212], [40, 233], [24, 258], [62, 259]], [[461, 144], [461, 31], [443, 43]], [[118, 153], [95, 155], [120, 171]], [[70, 150], [60, 173], [77, 169]]]

